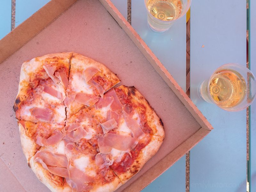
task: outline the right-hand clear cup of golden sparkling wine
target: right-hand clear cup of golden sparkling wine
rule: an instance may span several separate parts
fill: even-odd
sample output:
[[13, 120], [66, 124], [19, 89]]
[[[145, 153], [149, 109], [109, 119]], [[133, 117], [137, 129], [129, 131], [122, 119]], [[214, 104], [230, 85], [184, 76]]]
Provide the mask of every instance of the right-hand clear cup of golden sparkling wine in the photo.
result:
[[248, 68], [235, 63], [220, 66], [198, 87], [201, 99], [228, 111], [245, 109], [255, 94], [255, 76]]

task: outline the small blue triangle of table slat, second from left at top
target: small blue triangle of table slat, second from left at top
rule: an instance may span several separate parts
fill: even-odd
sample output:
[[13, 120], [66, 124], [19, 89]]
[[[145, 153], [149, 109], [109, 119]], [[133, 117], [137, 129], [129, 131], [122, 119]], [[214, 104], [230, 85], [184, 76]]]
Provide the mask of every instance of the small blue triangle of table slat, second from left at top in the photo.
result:
[[32, 14], [47, 4], [50, 0], [16, 0], [15, 27], [28, 19]]

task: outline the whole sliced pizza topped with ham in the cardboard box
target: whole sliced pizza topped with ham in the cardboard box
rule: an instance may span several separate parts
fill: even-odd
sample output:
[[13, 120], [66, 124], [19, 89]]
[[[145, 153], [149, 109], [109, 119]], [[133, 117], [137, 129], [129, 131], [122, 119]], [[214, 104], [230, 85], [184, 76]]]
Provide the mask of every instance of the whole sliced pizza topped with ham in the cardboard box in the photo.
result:
[[14, 111], [29, 167], [51, 191], [115, 191], [156, 154], [164, 126], [135, 87], [78, 53], [21, 66]]

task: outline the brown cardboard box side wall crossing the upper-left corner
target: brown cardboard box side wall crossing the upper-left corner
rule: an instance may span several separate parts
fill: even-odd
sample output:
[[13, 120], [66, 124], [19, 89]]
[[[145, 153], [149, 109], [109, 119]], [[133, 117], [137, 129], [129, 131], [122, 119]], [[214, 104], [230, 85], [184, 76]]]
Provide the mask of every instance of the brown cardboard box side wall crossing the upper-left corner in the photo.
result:
[[[0, 40], [0, 64], [59, 17], [77, 0], [52, 0]], [[52, 7], [55, 6], [54, 12]], [[44, 16], [44, 17], [42, 17]], [[32, 25], [36, 23], [36, 25]], [[10, 46], [11, 45], [11, 46]]]

